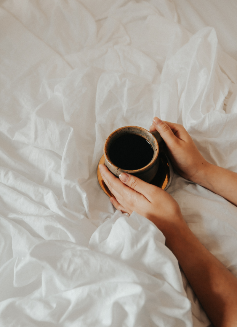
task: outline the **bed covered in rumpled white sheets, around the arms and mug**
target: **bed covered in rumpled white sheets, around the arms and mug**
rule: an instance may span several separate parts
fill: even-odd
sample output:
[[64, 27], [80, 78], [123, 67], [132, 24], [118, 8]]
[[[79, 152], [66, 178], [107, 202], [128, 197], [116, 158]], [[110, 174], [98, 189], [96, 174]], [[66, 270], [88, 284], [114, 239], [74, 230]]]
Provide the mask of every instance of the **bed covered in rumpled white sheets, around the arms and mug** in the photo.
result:
[[[96, 170], [113, 130], [158, 116], [237, 172], [236, 17], [233, 0], [0, 1], [1, 326], [211, 326]], [[176, 173], [167, 192], [237, 277], [237, 208]]]

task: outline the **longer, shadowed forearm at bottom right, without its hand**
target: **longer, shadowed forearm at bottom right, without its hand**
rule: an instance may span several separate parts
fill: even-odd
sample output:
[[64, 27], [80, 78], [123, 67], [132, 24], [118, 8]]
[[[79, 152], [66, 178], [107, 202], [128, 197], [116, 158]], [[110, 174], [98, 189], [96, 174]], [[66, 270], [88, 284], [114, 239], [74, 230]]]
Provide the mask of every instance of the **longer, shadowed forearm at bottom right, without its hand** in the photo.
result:
[[237, 279], [196, 238], [187, 225], [166, 236], [189, 283], [215, 327], [237, 324]]

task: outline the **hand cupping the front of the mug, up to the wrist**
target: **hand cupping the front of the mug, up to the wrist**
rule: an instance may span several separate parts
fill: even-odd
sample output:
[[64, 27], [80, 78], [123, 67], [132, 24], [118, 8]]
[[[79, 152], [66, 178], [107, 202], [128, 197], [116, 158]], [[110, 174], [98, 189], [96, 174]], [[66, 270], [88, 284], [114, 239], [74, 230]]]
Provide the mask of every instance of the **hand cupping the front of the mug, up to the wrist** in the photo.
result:
[[129, 215], [136, 211], [151, 220], [167, 238], [169, 233], [185, 224], [178, 203], [164, 190], [126, 173], [115, 177], [105, 165], [99, 166], [101, 176], [114, 198], [114, 207]]

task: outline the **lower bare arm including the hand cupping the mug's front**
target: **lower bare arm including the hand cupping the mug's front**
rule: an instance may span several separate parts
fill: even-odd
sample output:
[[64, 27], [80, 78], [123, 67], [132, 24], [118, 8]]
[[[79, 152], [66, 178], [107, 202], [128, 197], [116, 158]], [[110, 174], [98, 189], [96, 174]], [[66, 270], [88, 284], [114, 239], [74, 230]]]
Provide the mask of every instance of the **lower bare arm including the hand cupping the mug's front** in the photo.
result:
[[178, 203], [162, 189], [121, 174], [119, 179], [100, 165], [100, 172], [114, 195], [116, 209], [151, 220], [166, 237], [215, 327], [235, 327], [237, 323], [237, 279], [196, 238], [186, 225]]

